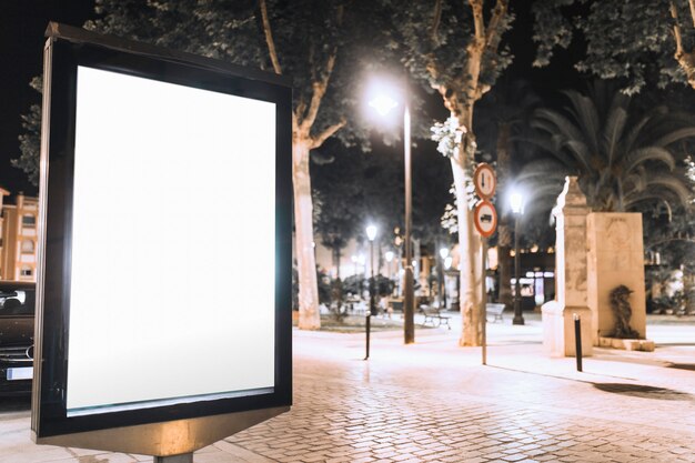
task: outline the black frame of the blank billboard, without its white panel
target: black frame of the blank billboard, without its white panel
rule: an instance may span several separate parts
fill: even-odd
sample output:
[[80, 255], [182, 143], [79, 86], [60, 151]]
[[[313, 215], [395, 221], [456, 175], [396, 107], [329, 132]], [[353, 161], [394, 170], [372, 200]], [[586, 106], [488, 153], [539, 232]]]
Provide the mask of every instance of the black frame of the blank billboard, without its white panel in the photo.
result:
[[[292, 403], [292, 90], [289, 79], [53, 22], [49, 24], [47, 37], [32, 437], [37, 443], [163, 456], [192, 452], [288, 411]], [[78, 66], [275, 103], [275, 371], [272, 392], [68, 416]], [[182, 424], [188, 433], [194, 434], [189, 435], [188, 446], [165, 449], [161, 443], [153, 446], [144, 442], [144, 437], [134, 439], [142, 442], [133, 442], [137, 435], [165, 435], [172, 426], [180, 432]], [[216, 431], [211, 431], [211, 426]], [[121, 430], [130, 437], [115, 444], [119, 439], [113, 430]]]

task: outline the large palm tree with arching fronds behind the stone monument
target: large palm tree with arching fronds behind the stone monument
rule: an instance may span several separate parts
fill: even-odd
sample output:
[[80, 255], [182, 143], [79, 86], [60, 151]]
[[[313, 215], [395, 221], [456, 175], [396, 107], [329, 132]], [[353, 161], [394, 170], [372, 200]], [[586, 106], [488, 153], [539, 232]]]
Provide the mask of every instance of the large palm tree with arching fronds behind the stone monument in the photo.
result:
[[552, 157], [526, 164], [521, 181], [534, 184], [536, 192], [548, 192], [564, 175], [577, 175], [594, 211], [624, 212], [647, 202], [688, 202], [692, 192], [675, 169], [673, 147], [695, 138], [692, 117], [669, 113], [666, 107], [631, 114], [631, 98], [603, 82], [588, 95], [574, 90], [564, 94], [570, 100], [564, 110], [534, 112], [531, 124], [540, 137], [532, 141]]

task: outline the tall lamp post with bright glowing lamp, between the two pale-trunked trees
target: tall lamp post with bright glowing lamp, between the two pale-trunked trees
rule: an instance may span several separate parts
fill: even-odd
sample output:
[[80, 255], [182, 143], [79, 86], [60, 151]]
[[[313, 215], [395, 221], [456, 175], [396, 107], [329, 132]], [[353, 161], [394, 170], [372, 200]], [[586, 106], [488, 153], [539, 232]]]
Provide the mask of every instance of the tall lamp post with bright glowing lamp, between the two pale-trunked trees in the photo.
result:
[[[399, 102], [389, 93], [394, 90], [385, 85], [375, 84], [370, 90], [369, 105], [379, 114], [385, 117], [391, 110], [399, 107]], [[405, 272], [403, 274], [403, 338], [405, 344], [415, 342], [415, 288], [412, 264], [412, 174], [411, 174], [411, 113], [406, 103], [403, 103], [403, 162], [405, 164]]]

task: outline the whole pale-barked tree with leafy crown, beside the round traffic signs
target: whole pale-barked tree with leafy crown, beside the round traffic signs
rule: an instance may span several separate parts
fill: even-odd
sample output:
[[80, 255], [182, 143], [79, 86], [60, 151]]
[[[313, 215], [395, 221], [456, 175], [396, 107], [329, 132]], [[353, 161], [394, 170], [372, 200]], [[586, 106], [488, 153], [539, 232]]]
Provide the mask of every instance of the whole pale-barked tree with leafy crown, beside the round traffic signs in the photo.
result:
[[[502, 34], [513, 14], [507, 0], [393, 2], [394, 42], [401, 43], [403, 62], [410, 72], [442, 98], [455, 121], [452, 149], [446, 151], [456, 188], [459, 248], [461, 262], [461, 345], [480, 345], [479, 308], [482, 269], [480, 240], [473, 232], [466, 183], [470, 183], [475, 153], [473, 109], [511, 62]], [[442, 145], [442, 143], [440, 143]]]

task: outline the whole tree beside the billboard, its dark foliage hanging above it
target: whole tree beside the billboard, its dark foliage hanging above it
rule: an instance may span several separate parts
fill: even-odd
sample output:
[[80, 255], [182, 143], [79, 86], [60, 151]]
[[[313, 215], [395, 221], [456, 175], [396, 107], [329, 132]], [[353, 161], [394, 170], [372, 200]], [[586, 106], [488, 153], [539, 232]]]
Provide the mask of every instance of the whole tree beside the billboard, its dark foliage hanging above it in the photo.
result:
[[[363, 47], [379, 42], [370, 2], [310, 0], [97, 0], [85, 27], [292, 77], [292, 158], [300, 328], [320, 328], [312, 230], [310, 152], [329, 138], [365, 140], [348, 124]], [[376, 50], [387, 51], [385, 47]], [[379, 53], [375, 53], [379, 56]], [[355, 122], [355, 120], [353, 120]], [[38, 162], [38, 157], [36, 158]]]

